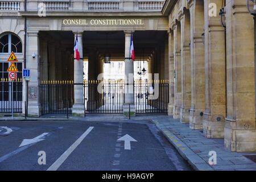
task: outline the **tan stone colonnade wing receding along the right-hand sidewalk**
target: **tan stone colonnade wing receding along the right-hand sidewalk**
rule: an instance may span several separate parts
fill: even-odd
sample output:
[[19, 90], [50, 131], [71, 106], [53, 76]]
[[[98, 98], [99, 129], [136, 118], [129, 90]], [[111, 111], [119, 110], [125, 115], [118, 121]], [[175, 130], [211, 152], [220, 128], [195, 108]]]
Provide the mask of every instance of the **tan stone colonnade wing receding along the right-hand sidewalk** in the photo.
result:
[[[231, 151], [255, 151], [255, 28], [246, 1], [167, 1], [169, 113]], [[225, 19], [210, 16], [224, 9]], [[172, 77], [175, 73], [175, 77]]]

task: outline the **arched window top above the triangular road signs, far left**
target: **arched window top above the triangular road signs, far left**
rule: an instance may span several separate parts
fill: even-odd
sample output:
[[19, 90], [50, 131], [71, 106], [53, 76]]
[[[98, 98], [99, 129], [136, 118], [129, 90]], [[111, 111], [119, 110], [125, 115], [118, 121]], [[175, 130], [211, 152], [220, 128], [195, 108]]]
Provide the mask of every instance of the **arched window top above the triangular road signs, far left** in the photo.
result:
[[0, 53], [22, 52], [22, 42], [14, 34], [5, 34], [0, 38]]

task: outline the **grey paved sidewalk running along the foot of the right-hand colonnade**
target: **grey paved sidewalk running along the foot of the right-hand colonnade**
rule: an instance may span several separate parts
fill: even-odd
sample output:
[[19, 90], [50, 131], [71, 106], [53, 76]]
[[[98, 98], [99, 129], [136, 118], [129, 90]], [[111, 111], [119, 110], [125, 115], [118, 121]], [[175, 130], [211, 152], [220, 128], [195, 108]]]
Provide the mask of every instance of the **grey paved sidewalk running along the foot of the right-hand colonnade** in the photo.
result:
[[[180, 155], [196, 170], [246, 170], [256, 171], [256, 163], [247, 159], [245, 155], [256, 152], [231, 152], [224, 148], [224, 139], [205, 138], [202, 131], [189, 129], [188, 123], [180, 123], [178, 119], [152, 119], [156, 127], [179, 151]], [[209, 151], [216, 151], [217, 164], [210, 166]]]

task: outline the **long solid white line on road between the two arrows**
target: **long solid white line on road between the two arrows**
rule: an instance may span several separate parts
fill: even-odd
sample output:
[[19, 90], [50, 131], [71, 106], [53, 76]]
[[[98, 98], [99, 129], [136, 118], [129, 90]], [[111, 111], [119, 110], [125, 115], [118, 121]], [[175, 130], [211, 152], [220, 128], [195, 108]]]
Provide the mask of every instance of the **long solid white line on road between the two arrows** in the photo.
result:
[[79, 137], [79, 139], [76, 140], [75, 143], [72, 144], [72, 146], [70, 146], [68, 148], [68, 150], [66, 150], [60, 157], [59, 159], [57, 159], [55, 161], [55, 163], [52, 164], [52, 166], [50, 166], [47, 171], [56, 171], [61, 164], [63, 164], [63, 162], [68, 158], [68, 156], [73, 152], [73, 150], [76, 149], [77, 146], [79, 146], [79, 144], [82, 142], [82, 140], [90, 133], [90, 131], [92, 131], [94, 127], [89, 127], [85, 133], [83, 133], [81, 135], [81, 137]]

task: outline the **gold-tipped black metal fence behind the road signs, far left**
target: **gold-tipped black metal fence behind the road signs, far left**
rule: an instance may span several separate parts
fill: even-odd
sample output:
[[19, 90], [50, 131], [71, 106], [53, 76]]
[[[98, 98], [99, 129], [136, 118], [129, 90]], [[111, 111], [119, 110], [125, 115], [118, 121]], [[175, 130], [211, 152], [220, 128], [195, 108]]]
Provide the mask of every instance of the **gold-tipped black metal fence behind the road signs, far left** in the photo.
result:
[[[13, 90], [12, 90], [13, 88]], [[11, 81], [8, 78], [1, 78], [0, 81], [0, 113], [22, 112], [22, 79]]]

